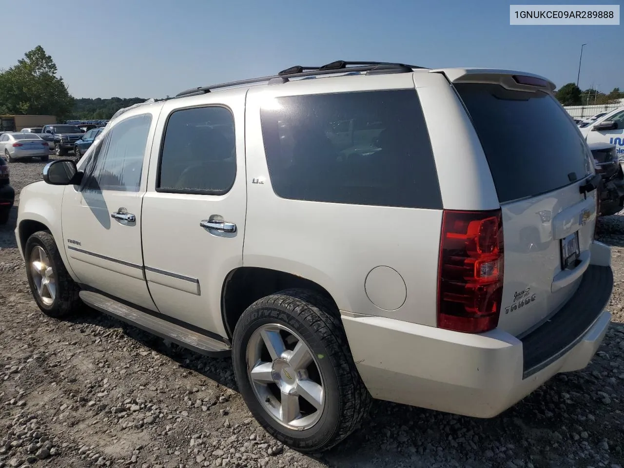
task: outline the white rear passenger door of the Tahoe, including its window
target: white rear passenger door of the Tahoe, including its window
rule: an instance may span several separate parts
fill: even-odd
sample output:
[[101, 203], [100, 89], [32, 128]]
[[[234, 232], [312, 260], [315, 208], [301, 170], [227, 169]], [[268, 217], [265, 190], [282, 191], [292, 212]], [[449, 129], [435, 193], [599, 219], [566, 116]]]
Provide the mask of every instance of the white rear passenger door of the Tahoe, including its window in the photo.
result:
[[161, 154], [150, 162], [143, 200], [143, 251], [158, 310], [227, 336], [223, 281], [243, 265], [245, 97], [215, 96], [197, 99], [199, 107], [163, 105], [154, 141]]

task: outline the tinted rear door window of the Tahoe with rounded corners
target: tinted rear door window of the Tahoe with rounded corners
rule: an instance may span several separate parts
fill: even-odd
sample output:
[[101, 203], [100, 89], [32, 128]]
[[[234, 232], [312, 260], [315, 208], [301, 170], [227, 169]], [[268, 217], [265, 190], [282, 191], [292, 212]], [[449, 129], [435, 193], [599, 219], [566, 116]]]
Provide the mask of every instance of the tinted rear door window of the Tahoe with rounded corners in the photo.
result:
[[236, 177], [234, 118], [225, 107], [176, 110], [165, 129], [157, 192], [223, 195]]

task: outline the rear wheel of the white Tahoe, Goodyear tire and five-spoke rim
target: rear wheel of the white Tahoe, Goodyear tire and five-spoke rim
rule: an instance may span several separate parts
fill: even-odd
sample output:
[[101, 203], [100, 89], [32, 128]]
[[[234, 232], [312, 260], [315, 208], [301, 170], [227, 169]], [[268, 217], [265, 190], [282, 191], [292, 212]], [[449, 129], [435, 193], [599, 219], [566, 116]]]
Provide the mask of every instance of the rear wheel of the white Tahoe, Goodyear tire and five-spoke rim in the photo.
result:
[[[286, 343], [281, 356], [290, 356], [287, 361], [278, 358], [269, 362], [272, 358], [267, 353], [261, 331], [283, 338], [278, 342]], [[300, 370], [303, 367], [291, 366], [296, 359], [293, 359], [294, 349], [289, 350], [289, 347], [293, 348], [295, 342], [288, 344], [289, 339], [303, 341], [307, 346], [310, 353], [306, 354], [307, 362], [311, 363], [303, 371]], [[298, 342], [296, 346], [300, 346]], [[251, 413], [267, 432], [295, 450], [327, 450], [349, 436], [368, 414], [371, 396], [353, 362], [338, 311], [331, 301], [318, 293], [284, 290], [256, 301], [238, 319], [232, 348], [238, 389]], [[263, 383], [252, 381], [248, 361], [261, 361], [268, 366]], [[261, 369], [256, 366], [251, 367]], [[307, 398], [301, 396], [303, 381], [306, 381], [306, 388], [314, 390], [308, 391]], [[284, 410], [281, 398], [284, 388], [294, 392], [290, 401], [296, 401], [296, 411]], [[321, 407], [320, 410], [308, 403], [313, 401], [308, 399], [312, 394], [319, 396], [316, 401], [321, 404], [316, 407]], [[285, 423], [280, 421], [284, 413], [297, 416], [286, 417]]]

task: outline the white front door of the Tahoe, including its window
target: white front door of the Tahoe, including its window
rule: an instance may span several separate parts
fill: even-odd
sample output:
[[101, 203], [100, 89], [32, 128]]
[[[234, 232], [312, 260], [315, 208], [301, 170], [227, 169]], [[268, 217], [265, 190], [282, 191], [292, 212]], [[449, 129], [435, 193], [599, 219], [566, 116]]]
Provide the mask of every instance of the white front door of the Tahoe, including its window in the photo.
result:
[[67, 257], [79, 281], [151, 310], [157, 309], [143, 272], [141, 203], [156, 119], [146, 110], [116, 122], [80, 164], [82, 183], [66, 188], [62, 205]]

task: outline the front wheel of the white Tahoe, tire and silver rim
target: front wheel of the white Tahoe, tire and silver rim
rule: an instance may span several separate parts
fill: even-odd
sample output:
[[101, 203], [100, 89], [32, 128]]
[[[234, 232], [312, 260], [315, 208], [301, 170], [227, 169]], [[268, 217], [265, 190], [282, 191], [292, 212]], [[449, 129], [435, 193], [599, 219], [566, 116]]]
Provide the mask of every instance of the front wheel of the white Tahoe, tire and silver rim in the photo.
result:
[[[41, 261], [40, 263], [43, 263], [44, 266], [52, 267], [51, 278], [55, 286], [54, 294], [51, 293], [50, 288], [47, 288], [47, 291], [46, 288], [42, 288], [44, 291], [42, 294], [37, 291], [37, 286], [41, 283], [41, 281], [39, 281], [39, 276], [43, 278], [49, 273], [47, 269], [46, 275], [37, 273], [36, 276], [36, 274], [33, 273], [33, 270], [37, 269], [32, 263], [34, 261], [44, 260], [38, 256], [41, 250], [46, 255], [47, 260]], [[74, 283], [69, 273], [67, 273], [67, 268], [65, 268], [52, 234], [47, 231], [39, 231], [31, 235], [26, 241], [24, 256], [26, 257], [26, 276], [28, 278], [28, 284], [31, 287], [32, 296], [41, 311], [53, 318], [63, 318], [76, 312], [80, 305], [82, 305], [82, 301], [80, 301], [78, 296], [80, 288]], [[40, 271], [44, 270], [40, 269]]]

